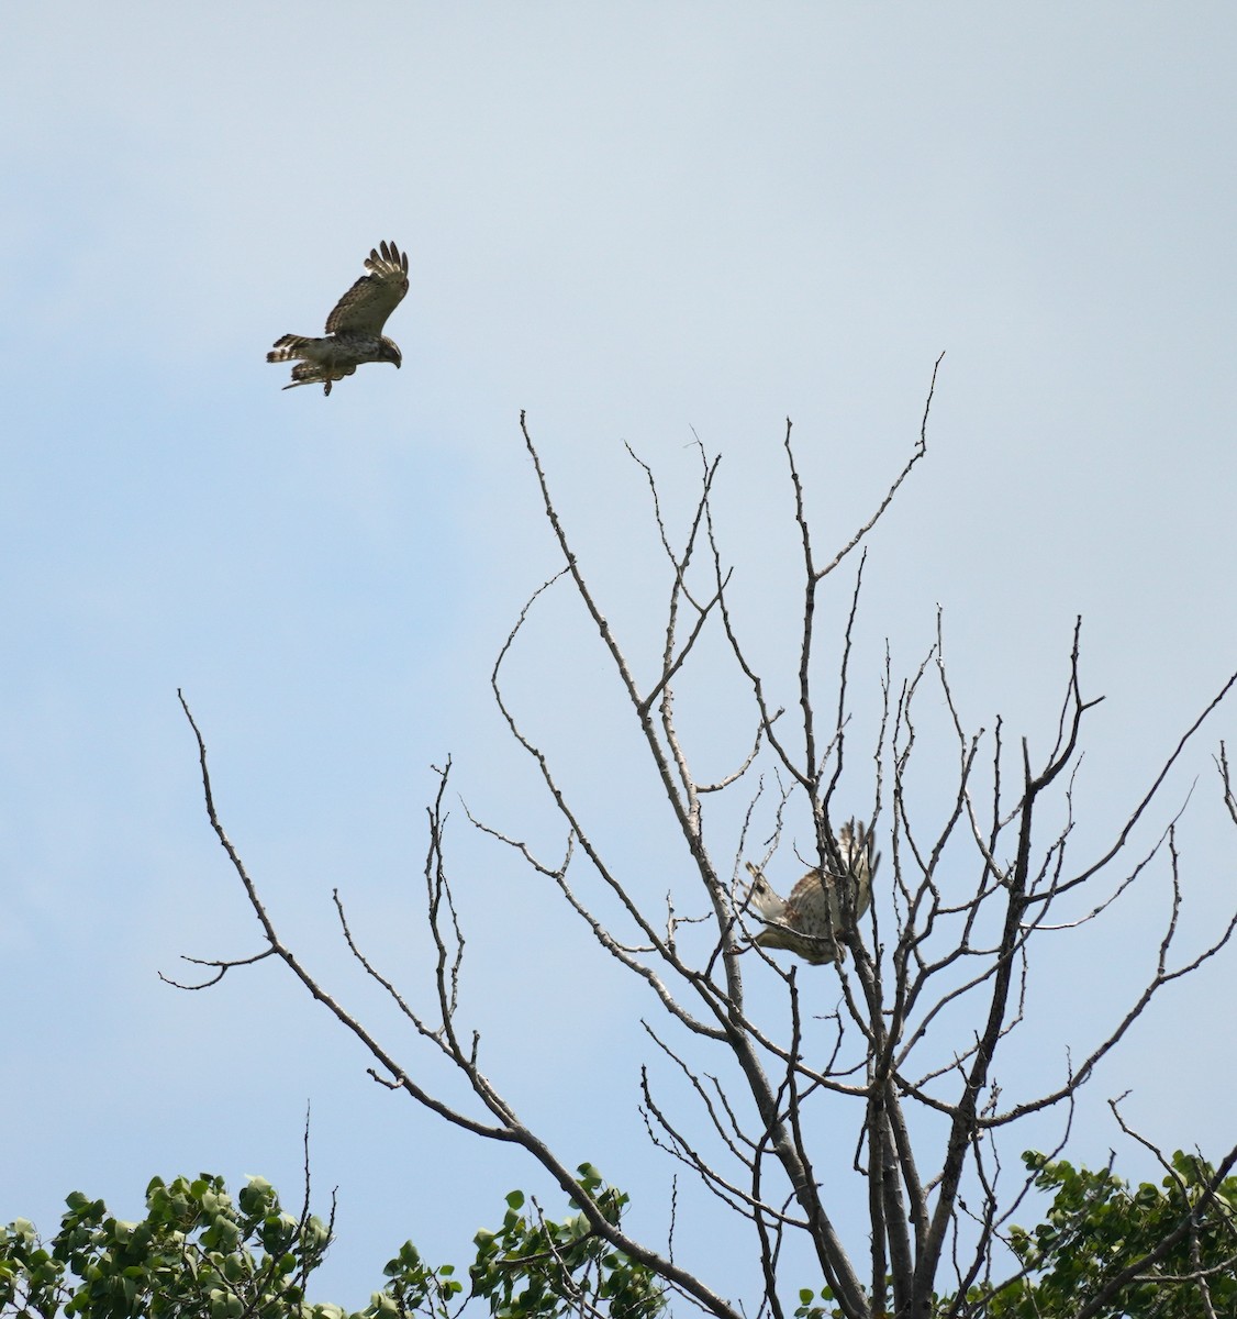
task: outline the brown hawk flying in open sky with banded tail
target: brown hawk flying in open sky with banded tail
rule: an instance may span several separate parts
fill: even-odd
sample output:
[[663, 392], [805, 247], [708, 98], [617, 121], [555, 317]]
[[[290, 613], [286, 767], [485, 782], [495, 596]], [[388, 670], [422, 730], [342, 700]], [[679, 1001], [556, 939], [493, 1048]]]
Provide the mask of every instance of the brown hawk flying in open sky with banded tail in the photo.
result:
[[286, 334], [266, 353], [268, 361], [297, 360], [285, 389], [322, 384], [328, 394], [334, 381], [351, 376], [361, 363], [393, 361], [398, 368], [404, 359], [382, 326], [407, 293], [407, 252], [384, 243], [381, 255], [377, 248], [371, 251], [365, 269], [373, 274], [363, 274], [335, 303], [324, 339]]

